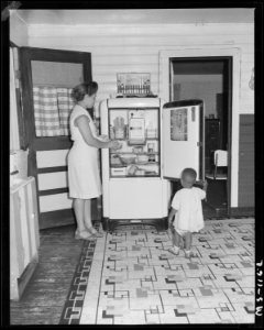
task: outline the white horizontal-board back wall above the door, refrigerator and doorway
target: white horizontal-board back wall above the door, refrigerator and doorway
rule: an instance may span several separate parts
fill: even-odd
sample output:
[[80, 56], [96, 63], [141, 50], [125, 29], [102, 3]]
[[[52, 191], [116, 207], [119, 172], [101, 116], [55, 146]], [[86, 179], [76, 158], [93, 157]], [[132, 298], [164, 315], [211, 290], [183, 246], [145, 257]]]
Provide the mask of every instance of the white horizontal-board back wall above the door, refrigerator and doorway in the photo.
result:
[[117, 91], [117, 73], [151, 73], [152, 90], [157, 94], [158, 52], [204, 45], [241, 50], [240, 113], [253, 113], [249, 80], [254, 67], [254, 24], [29, 25], [29, 46], [91, 53], [98, 102]]

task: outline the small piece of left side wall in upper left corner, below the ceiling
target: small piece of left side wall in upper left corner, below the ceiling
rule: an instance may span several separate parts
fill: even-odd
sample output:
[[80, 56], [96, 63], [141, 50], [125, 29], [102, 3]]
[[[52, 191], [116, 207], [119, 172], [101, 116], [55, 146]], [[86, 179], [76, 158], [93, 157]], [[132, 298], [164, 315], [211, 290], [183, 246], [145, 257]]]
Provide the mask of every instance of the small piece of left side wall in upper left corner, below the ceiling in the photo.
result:
[[10, 41], [16, 46], [28, 46], [28, 25], [15, 10], [10, 10]]

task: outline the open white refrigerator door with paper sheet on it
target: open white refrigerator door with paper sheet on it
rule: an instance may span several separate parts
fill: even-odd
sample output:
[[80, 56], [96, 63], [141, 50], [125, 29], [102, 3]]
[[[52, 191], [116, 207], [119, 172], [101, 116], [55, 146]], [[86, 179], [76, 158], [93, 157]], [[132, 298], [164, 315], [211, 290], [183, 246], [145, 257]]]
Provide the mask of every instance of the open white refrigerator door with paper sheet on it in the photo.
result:
[[185, 167], [205, 178], [202, 101], [166, 103], [163, 109], [163, 150], [165, 178], [180, 178]]

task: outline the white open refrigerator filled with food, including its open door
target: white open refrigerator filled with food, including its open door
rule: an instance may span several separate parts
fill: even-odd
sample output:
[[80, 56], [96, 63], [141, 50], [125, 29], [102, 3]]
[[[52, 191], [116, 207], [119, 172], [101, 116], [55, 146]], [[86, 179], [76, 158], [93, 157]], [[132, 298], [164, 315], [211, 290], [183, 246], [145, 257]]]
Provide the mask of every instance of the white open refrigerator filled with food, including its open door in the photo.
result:
[[185, 167], [204, 178], [204, 102], [116, 98], [100, 103], [101, 134], [119, 150], [101, 150], [102, 227], [145, 223], [167, 229], [172, 180]]

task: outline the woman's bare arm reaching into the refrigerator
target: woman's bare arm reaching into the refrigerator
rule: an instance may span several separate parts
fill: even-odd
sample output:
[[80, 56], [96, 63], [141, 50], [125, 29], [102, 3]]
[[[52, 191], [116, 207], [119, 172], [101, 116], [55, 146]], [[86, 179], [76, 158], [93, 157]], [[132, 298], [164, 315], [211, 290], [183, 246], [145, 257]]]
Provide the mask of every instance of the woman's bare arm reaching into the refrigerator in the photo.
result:
[[94, 147], [102, 148], [102, 147], [118, 147], [118, 141], [108, 141], [103, 142], [96, 139], [90, 130], [89, 119], [86, 116], [79, 116], [75, 120], [75, 125], [79, 129], [80, 134], [85, 142]]

